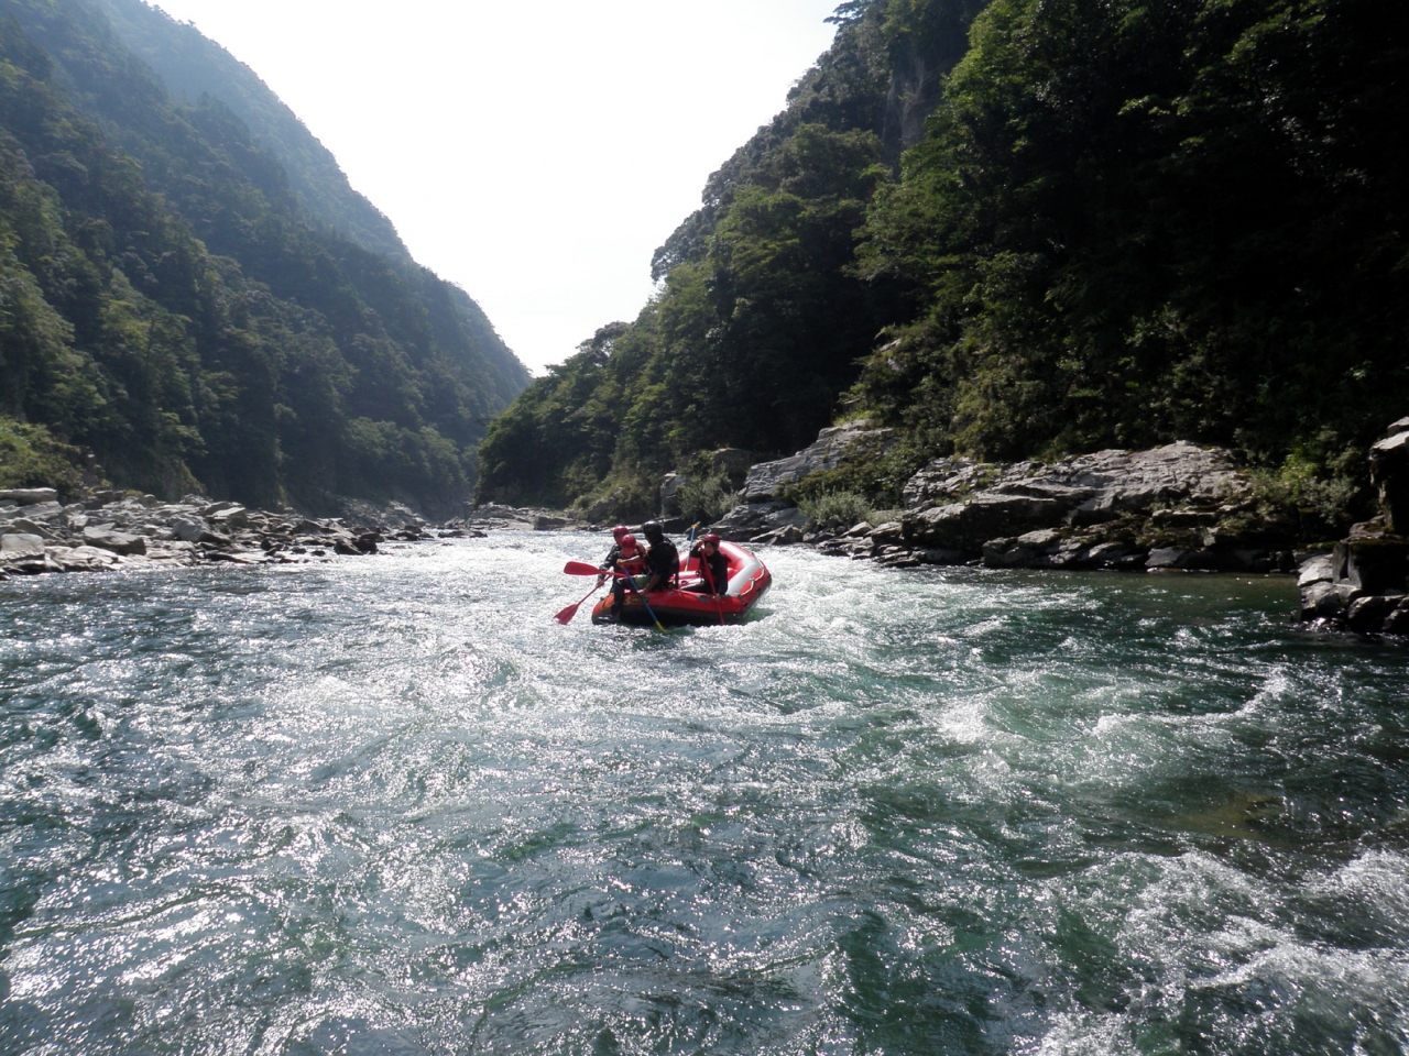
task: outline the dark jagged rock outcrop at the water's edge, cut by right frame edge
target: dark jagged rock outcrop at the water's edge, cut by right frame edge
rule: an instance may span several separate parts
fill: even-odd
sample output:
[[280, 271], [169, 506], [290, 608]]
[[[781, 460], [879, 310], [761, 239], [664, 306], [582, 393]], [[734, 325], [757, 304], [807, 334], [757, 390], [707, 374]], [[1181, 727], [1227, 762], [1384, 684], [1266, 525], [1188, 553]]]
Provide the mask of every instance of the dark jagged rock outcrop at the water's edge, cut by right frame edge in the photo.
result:
[[1357, 524], [1298, 576], [1302, 620], [1363, 634], [1409, 635], [1409, 418], [1370, 449], [1381, 514]]

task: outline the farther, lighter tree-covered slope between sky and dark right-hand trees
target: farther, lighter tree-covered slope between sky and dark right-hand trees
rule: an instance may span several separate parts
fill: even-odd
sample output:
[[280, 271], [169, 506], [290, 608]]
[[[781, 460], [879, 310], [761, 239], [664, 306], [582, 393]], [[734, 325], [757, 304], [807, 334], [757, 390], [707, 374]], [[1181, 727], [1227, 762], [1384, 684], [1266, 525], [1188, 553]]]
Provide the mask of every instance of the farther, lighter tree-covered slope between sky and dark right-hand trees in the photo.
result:
[[714, 176], [657, 252], [661, 291], [534, 382], [480, 448], [479, 493], [565, 504], [655, 501], [703, 448], [783, 453], [831, 418], [895, 306], [851, 272], [857, 231], [974, 0], [903, 0], [843, 18], [788, 110]]

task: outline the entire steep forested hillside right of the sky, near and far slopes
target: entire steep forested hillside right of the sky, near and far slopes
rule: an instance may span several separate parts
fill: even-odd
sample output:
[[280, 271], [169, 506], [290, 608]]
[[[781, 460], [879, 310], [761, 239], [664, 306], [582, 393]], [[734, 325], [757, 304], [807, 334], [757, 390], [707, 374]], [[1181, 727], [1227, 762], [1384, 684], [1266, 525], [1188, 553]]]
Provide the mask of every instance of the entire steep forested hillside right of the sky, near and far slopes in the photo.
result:
[[1172, 439], [1324, 483], [1409, 407], [1392, 6], [852, 0], [837, 20], [657, 253], [659, 296], [495, 424], [482, 494], [644, 513], [695, 452], [783, 453], [858, 415], [902, 436], [848, 482], [872, 491], [954, 451]]

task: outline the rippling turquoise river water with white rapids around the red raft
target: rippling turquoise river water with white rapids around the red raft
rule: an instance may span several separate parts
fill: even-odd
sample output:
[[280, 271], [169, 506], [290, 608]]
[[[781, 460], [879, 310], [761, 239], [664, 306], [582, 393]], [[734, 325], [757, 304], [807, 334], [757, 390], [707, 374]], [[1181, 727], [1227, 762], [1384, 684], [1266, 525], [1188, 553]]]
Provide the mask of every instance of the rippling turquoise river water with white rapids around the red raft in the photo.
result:
[[3, 1053], [1402, 1053], [1409, 649], [1289, 579], [604, 541], [0, 583]]

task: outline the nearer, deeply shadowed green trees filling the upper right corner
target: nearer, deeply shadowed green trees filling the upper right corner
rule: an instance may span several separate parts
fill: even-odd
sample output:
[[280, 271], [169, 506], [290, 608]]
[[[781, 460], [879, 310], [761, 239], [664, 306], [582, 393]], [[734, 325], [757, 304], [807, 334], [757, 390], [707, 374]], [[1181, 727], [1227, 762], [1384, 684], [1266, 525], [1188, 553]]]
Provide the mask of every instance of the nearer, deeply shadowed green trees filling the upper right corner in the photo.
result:
[[1332, 459], [1409, 403], [1402, 20], [1370, 0], [995, 0], [862, 272], [857, 396], [996, 456]]

